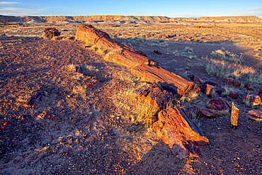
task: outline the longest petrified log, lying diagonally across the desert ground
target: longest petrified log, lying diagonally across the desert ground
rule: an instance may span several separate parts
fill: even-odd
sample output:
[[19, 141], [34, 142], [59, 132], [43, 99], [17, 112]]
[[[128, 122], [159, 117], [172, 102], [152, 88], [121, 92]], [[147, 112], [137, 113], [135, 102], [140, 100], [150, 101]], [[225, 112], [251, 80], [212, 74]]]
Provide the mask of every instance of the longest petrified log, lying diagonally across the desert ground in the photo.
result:
[[191, 81], [159, 67], [159, 63], [149, 59], [143, 52], [134, 50], [111, 39], [110, 36], [93, 26], [81, 25], [76, 30], [76, 39], [107, 50], [113, 62], [132, 68], [132, 73], [149, 82], [161, 84], [166, 91], [182, 96], [190, 92], [198, 93], [200, 88]]

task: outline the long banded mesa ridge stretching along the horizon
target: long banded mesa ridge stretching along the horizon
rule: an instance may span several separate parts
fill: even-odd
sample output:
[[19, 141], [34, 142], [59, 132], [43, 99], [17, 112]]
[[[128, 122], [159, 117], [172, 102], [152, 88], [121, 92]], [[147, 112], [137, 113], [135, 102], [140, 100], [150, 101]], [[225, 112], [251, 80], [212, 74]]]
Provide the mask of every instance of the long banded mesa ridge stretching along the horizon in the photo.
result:
[[[110, 22], [109, 22], [110, 21]], [[205, 21], [262, 23], [257, 16], [221, 16], [200, 18], [169, 18], [166, 16], [3, 16], [0, 22], [18, 23], [172, 23], [174, 21]]]

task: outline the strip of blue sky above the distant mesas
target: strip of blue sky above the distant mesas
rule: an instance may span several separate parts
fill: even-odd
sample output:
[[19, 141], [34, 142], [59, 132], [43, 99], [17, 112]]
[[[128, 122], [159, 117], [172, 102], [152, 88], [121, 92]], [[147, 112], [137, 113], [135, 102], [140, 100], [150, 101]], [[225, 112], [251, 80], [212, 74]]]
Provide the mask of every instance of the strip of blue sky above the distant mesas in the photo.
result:
[[10, 16], [258, 16], [262, 0], [0, 0]]

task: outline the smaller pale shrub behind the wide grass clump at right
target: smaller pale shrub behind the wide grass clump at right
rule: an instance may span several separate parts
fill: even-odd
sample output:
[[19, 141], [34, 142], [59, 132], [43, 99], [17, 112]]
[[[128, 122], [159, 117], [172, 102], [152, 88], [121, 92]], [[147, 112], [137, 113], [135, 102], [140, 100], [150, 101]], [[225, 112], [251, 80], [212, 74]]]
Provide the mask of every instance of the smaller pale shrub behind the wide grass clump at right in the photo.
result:
[[219, 58], [220, 60], [228, 61], [228, 62], [236, 62], [241, 63], [242, 55], [236, 55], [228, 50], [215, 50], [210, 53], [215, 58]]

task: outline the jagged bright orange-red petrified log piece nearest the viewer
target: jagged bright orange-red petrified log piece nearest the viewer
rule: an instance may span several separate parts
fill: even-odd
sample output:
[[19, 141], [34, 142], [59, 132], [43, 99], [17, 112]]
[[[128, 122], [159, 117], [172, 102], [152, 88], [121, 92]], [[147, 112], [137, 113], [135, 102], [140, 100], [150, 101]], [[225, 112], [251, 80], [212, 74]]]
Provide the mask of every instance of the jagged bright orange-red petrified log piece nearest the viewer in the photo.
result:
[[158, 118], [152, 129], [162, 133], [163, 142], [174, 154], [182, 158], [200, 156], [198, 146], [204, 146], [209, 141], [181, 108], [175, 106], [160, 111]]

